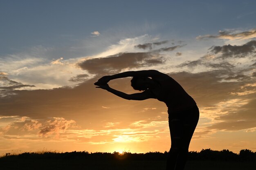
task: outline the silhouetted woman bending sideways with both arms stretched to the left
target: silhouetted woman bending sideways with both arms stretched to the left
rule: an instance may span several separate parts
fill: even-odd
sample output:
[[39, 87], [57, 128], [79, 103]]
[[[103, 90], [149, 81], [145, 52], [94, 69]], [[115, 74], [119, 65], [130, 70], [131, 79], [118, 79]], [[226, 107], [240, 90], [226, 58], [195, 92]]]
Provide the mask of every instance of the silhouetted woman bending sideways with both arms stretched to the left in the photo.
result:
[[[141, 93], [126, 94], [108, 86], [112, 79], [133, 77], [131, 86]], [[149, 78], [151, 77], [151, 78]], [[101, 77], [94, 83], [110, 93], [128, 100], [158, 99], [168, 107], [171, 149], [166, 170], [183, 170], [189, 143], [198, 123], [199, 110], [193, 98], [170, 76], [156, 70], [127, 71]]]

